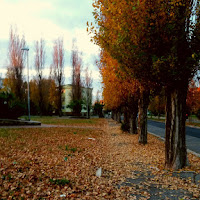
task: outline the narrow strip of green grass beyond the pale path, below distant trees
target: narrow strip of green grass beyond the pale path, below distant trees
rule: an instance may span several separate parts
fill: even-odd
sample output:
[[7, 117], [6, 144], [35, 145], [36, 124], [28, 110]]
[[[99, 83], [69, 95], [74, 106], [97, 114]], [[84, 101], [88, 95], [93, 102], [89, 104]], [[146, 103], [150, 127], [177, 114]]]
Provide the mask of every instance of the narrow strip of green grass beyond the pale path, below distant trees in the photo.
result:
[[31, 120], [39, 121], [42, 124], [60, 124], [60, 125], [68, 125], [68, 124], [88, 124], [95, 125], [97, 124], [97, 119], [66, 119], [59, 118], [57, 116], [31, 116]]

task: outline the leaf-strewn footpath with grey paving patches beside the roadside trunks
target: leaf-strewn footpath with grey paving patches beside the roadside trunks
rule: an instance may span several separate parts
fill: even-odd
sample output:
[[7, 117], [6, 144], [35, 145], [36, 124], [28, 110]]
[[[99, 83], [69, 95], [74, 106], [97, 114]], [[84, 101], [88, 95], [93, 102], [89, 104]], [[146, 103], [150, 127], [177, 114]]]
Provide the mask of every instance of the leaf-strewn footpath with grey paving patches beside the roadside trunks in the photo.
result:
[[[166, 171], [164, 144], [149, 135], [147, 145], [139, 145], [136, 135], [119, 133], [119, 124], [108, 119], [111, 143], [117, 146], [113, 158], [126, 178], [118, 188], [126, 190], [126, 199], [200, 199], [200, 175], [194, 171]], [[128, 155], [128, 156], [127, 156]]]

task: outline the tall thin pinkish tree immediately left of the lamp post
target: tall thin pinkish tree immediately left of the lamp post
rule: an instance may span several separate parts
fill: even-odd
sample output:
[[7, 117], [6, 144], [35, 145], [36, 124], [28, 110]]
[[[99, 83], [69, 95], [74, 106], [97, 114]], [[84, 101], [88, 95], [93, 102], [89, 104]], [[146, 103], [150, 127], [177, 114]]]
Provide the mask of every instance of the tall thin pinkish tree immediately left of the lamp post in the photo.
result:
[[9, 67], [7, 69], [7, 86], [11, 89], [17, 99], [25, 101], [25, 88], [23, 82], [24, 51], [21, 49], [26, 45], [25, 38], [19, 37], [16, 29], [10, 29], [8, 58]]

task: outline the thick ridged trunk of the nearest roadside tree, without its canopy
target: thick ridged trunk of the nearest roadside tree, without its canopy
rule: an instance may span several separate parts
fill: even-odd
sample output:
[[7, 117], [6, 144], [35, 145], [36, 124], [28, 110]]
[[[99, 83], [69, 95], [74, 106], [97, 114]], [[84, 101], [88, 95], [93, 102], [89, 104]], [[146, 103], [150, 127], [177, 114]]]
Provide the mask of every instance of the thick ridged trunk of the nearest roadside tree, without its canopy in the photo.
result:
[[185, 109], [187, 86], [166, 91], [165, 167], [180, 169], [187, 165]]

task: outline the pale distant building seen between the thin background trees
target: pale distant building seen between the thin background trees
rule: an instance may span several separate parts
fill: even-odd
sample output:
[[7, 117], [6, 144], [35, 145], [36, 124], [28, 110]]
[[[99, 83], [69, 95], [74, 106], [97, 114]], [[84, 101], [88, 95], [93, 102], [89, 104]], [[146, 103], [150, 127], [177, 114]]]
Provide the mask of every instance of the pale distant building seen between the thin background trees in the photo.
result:
[[[70, 101], [72, 99], [72, 85], [68, 84], [68, 85], [63, 85], [63, 93], [62, 93], [62, 112], [64, 115], [70, 115], [72, 114], [72, 110], [70, 108], [68, 108], [68, 105], [70, 104]], [[92, 88], [88, 88], [89, 90], [89, 96], [92, 98]], [[87, 88], [82, 87], [82, 99], [83, 101], [87, 101]], [[92, 102], [92, 99], [90, 100]], [[84, 105], [82, 107], [81, 113], [82, 115], [86, 115], [86, 105]]]

